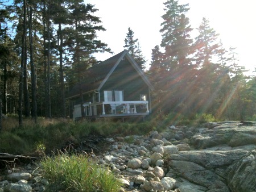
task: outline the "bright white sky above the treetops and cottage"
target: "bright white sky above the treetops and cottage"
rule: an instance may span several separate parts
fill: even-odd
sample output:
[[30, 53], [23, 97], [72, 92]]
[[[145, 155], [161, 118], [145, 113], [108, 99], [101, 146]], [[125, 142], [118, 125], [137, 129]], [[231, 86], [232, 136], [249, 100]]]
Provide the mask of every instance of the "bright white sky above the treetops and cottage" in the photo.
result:
[[[117, 54], [123, 51], [128, 28], [138, 39], [141, 51], [147, 63], [151, 62], [151, 53], [155, 45], [160, 45], [162, 34], [160, 24], [165, 13], [163, 2], [166, 0], [85, 0], [95, 5], [95, 12], [102, 21], [106, 31], [98, 33], [98, 39], [108, 44]], [[252, 72], [256, 68], [253, 58], [256, 45], [256, 1], [255, 0], [179, 0], [180, 5], [189, 3], [187, 12], [192, 37], [197, 36], [197, 30], [203, 17], [209, 20], [209, 25], [217, 34], [226, 49], [236, 47], [239, 64]], [[98, 60], [106, 60], [110, 53], [96, 55]]]

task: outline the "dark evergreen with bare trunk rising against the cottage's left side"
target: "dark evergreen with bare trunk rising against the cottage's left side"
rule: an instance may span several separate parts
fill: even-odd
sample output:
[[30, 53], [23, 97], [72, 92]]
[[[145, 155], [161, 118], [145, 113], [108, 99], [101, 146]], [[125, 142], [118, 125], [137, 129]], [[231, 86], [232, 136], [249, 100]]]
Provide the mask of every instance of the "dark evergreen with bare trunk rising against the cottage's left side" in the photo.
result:
[[99, 25], [100, 18], [92, 14], [97, 11], [93, 5], [85, 5], [82, 1], [73, 3], [69, 10], [69, 19], [72, 25], [69, 27], [69, 35], [67, 39], [68, 51], [72, 55], [73, 72], [77, 74], [80, 85], [80, 99], [81, 99], [81, 114], [85, 116], [82, 110], [84, 103], [82, 97], [82, 82], [86, 81], [83, 72], [89, 68], [90, 65], [96, 64], [93, 53], [110, 52], [107, 44], [102, 43], [97, 39], [97, 31], [105, 31], [105, 28]]

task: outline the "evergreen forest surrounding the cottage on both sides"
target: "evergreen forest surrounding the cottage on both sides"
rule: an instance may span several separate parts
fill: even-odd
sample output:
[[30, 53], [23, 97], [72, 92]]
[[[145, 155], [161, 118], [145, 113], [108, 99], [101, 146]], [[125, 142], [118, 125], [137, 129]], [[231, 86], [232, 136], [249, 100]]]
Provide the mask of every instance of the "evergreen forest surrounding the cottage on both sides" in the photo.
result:
[[[198, 28], [191, 28], [188, 4], [168, 0], [164, 5], [166, 13], [159, 23], [162, 41], [152, 48], [149, 63], [134, 31], [127, 26], [124, 34], [123, 48], [155, 87], [154, 116], [255, 119], [256, 76], [246, 75], [236, 48], [226, 50], [206, 18]], [[36, 122], [38, 116], [71, 116], [65, 95], [73, 85], [86, 81], [84, 72], [100, 62], [94, 53], [112, 52], [97, 39], [97, 32], [105, 31], [97, 11], [82, 0], [0, 2], [2, 114], [17, 114], [20, 126], [24, 117]], [[197, 36], [192, 38], [195, 31]]]

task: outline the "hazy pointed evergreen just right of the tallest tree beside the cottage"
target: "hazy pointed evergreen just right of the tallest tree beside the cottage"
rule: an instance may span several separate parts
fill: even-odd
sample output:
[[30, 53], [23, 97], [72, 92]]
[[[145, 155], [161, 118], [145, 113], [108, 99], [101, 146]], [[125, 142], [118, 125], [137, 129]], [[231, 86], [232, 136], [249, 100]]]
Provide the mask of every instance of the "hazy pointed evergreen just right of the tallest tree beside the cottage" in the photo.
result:
[[217, 60], [224, 49], [221, 49], [218, 34], [209, 26], [207, 19], [203, 18], [197, 30], [199, 35], [196, 37], [194, 47], [196, 66], [199, 69], [197, 84], [200, 87], [198, 90], [200, 104], [198, 107], [201, 113], [213, 112], [214, 101], [220, 94], [220, 89], [216, 89], [218, 87], [216, 82], [220, 76], [221, 63]]

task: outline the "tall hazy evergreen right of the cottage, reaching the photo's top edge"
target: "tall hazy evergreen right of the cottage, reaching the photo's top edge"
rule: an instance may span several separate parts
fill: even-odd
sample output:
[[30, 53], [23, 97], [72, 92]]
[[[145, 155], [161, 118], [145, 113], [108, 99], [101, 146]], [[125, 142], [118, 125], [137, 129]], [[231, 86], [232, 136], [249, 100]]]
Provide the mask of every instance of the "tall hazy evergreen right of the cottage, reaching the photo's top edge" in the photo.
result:
[[[161, 24], [160, 32], [162, 32], [161, 47], [165, 49], [162, 67], [166, 72], [162, 74], [162, 89], [168, 94], [165, 98], [169, 103], [166, 111], [169, 112], [171, 108], [181, 112], [187, 105], [190, 93], [190, 86], [187, 83], [193, 78], [195, 69], [191, 61], [193, 41], [190, 32], [192, 28], [189, 25], [189, 19], [185, 16], [189, 8], [188, 4], [179, 5], [175, 0], [168, 0], [164, 5], [166, 14], [162, 16], [164, 22]], [[181, 90], [180, 87], [183, 89]]]

